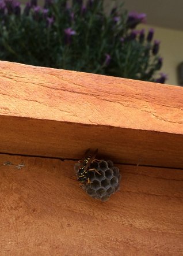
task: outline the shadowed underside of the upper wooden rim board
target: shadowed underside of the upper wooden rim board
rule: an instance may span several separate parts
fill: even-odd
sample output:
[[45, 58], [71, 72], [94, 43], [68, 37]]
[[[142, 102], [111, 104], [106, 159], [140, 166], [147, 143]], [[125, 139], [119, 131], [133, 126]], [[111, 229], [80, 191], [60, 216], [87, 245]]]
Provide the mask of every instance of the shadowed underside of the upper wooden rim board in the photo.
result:
[[1, 153], [81, 159], [86, 149], [117, 163], [183, 168], [183, 136], [103, 125], [2, 116]]

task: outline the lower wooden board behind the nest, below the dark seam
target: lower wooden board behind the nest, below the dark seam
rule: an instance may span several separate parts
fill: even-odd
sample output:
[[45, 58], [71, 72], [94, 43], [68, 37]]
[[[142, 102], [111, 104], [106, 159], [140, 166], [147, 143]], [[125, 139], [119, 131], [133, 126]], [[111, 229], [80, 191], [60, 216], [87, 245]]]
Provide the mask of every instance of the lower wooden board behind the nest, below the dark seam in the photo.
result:
[[183, 254], [182, 170], [118, 165], [121, 189], [102, 203], [74, 163], [0, 155], [2, 256]]

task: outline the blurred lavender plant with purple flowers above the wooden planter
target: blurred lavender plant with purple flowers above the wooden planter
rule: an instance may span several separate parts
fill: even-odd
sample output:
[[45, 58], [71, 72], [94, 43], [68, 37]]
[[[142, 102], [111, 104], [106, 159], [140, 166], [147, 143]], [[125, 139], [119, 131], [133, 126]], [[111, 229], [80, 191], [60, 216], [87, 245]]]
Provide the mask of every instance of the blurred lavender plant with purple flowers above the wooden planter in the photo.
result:
[[21, 10], [0, 0], [0, 60], [165, 83], [154, 29], [136, 26], [144, 13], [121, 6], [104, 11], [104, 0], [37, 0]]

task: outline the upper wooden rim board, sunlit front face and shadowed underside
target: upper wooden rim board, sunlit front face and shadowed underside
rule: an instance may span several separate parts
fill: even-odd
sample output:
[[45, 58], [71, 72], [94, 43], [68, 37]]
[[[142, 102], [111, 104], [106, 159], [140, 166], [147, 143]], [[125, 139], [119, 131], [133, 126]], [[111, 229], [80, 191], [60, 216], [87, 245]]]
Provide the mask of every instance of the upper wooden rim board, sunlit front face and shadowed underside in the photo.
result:
[[1, 152], [183, 168], [183, 88], [0, 62]]

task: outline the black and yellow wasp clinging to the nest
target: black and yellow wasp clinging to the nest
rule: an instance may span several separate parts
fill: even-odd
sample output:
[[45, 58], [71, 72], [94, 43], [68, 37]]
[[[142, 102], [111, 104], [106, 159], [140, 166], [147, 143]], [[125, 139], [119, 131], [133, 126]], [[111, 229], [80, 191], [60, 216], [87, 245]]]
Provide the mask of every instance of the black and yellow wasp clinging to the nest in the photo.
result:
[[95, 168], [90, 168], [90, 165], [93, 164], [94, 161], [100, 161], [96, 159], [96, 155], [98, 153], [98, 149], [94, 151], [94, 153], [91, 155], [89, 154], [90, 149], [88, 149], [85, 153], [84, 159], [80, 160], [79, 162], [82, 163], [82, 166], [78, 169], [78, 181], [80, 181], [81, 184], [89, 184], [91, 183], [90, 178], [89, 178], [89, 170], [94, 170], [97, 172], [99, 175], [101, 175], [98, 170]]

